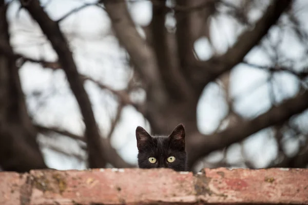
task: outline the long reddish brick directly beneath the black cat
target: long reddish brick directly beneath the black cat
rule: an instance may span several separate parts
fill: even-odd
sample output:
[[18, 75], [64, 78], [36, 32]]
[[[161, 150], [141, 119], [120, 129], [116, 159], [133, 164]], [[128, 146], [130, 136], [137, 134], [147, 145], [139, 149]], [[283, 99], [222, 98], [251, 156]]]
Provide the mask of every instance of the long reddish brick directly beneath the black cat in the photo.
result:
[[[96, 169], [91, 171], [31, 171], [40, 178], [34, 186], [31, 204], [123, 204], [155, 201], [194, 201], [192, 173], [171, 170]], [[59, 192], [57, 175], [65, 183]], [[44, 189], [40, 180], [48, 184]], [[34, 183], [35, 184], [35, 183]], [[58, 187], [58, 188], [57, 188]], [[71, 203], [73, 204], [73, 203]]]

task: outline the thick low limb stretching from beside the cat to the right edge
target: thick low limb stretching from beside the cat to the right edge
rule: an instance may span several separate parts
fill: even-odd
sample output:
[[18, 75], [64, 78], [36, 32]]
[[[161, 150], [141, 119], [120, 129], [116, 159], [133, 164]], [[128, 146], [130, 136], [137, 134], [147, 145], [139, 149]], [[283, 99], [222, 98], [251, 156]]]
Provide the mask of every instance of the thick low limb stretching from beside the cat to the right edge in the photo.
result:
[[308, 91], [300, 91], [291, 99], [285, 100], [279, 106], [274, 106], [266, 113], [258, 117], [242, 121], [236, 126], [230, 127], [220, 133], [204, 136], [199, 132], [197, 136], [188, 138], [189, 165], [191, 166], [200, 157], [212, 151], [222, 149], [230, 144], [241, 141], [244, 138], [264, 128], [279, 124], [290, 119], [293, 115], [303, 112], [308, 108]]

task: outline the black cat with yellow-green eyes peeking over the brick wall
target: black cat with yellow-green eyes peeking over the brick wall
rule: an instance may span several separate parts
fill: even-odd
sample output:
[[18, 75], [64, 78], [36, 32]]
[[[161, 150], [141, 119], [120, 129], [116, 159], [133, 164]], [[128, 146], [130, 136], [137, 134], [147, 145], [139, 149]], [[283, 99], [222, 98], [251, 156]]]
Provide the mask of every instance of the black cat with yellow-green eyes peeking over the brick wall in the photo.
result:
[[186, 171], [185, 130], [182, 124], [178, 125], [169, 136], [151, 136], [138, 126], [136, 138], [139, 168], [170, 168]]

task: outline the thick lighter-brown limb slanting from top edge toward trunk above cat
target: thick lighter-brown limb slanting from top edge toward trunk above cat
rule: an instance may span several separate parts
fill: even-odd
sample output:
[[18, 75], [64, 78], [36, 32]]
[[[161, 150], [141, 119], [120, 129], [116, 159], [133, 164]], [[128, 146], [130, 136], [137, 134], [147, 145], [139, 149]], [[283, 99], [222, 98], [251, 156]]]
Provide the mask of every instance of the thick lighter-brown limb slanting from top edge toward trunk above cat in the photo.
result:
[[143, 78], [149, 98], [158, 105], [167, 103], [167, 95], [159, 75], [158, 63], [152, 48], [139, 35], [124, 0], [105, 0], [106, 11], [120, 43], [131, 57], [136, 70]]

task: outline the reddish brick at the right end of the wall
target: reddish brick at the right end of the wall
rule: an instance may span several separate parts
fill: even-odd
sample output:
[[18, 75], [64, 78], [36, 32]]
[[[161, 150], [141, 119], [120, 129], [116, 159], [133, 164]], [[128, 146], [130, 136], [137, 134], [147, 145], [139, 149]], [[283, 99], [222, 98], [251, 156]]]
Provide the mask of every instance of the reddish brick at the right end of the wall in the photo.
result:
[[[308, 169], [204, 169], [209, 203], [308, 204]], [[199, 182], [200, 183], [200, 182]]]

